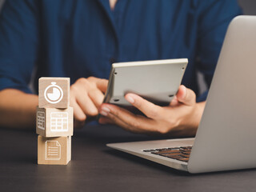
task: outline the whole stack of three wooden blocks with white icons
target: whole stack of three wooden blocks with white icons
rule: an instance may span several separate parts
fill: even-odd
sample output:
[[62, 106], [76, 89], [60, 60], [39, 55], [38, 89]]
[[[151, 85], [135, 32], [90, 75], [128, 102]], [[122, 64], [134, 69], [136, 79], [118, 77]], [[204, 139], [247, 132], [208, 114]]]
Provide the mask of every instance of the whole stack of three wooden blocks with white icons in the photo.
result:
[[73, 135], [70, 78], [39, 78], [38, 96], [38, 164], [66, 165]]

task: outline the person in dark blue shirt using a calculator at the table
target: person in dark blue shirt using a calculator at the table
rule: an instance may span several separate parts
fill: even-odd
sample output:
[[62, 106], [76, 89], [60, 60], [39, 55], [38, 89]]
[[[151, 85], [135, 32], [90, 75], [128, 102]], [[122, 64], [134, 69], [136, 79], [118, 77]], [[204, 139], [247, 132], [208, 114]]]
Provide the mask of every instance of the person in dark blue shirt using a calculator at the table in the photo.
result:
[[[101, 113], [99, 122], [133, 132], [193, 135], [207, 94], [198, 95], [196, 71], [210, 86], [226, 28], [238, 14], [234, 0], [7, 1], [0, 18], [1, 126], [34, 125], [38, 96], [28, 84], [35, 70], [35, 90], [39, 77], [71, 78], [75, 126]], [[111, 63], [166, 58], [189, 58], [170, 106], [135, 94], [126, 99], [145, 117], [102, 105]]]

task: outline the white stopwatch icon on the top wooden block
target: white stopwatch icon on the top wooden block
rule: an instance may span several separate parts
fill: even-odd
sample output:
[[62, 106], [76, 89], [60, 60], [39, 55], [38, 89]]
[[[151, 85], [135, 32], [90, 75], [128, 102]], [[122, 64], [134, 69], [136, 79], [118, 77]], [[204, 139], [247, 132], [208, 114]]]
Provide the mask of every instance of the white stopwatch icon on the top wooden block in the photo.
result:
[[47, 102], [56, 104], [62, 101], [63, 90], [60, 86], [56, 85], [56, 82], [51, 82], [51, 85], [46, 87], [44, 96]]

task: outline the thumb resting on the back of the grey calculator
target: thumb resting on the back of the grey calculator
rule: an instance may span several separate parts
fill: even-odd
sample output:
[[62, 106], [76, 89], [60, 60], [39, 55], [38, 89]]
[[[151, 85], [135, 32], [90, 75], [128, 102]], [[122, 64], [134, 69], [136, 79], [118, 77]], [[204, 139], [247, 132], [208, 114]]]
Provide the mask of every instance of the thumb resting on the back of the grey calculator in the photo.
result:
[[130, 104], [142, 111], [148, 118], [157, 118], [159, 112], [162, 110], [160, 106], [156, 106], [154, 103], [146, 101], [146, 99], [137, 94], [126, 94], [125, 98]]

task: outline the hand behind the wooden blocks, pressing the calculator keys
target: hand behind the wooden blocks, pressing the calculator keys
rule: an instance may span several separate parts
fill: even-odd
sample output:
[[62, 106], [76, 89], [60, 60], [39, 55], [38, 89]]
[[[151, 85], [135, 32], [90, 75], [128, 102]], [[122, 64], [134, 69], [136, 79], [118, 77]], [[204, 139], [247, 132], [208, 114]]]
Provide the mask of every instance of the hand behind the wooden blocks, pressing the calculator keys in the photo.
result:
[[74, 126], [81, 127], [86, 119], [98, 115], [108, 80], [102, 78], [79, 78], [70, 86], [70, 106], [74, 108]]

